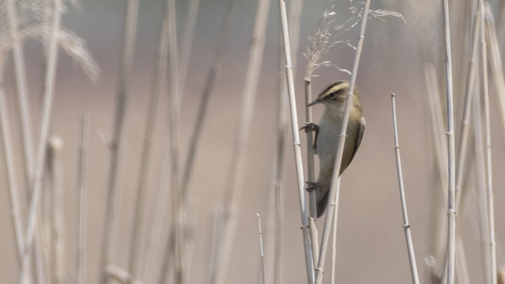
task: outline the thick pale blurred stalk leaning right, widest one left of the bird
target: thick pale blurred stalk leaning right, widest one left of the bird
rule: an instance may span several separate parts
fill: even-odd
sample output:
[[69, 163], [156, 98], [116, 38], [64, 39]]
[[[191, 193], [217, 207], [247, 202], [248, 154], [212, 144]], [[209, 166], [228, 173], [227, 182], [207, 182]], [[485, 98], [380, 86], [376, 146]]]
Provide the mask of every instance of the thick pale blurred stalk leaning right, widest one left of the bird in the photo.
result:
[[249, 51], [249, 63], [245, 75], [242, 93], [240, 119], [237, 126], [235, 142], [230, 165], [226, 192], [224, 196], [223, 229], [219, 237], [217, 266], [211, 272], [211, 283], [222, 283], [226, 279], [229, 259], [235, 237], [240, 196], [244, 187], [244, 169], [246, 162], [247, 141], [252, 125], [255, 99], [263, 61], [265, 47], [265, 30], [268, 21], [270, 0], [259, 0], [256, 9], [255, 24], [252, 30], [252, 42]]

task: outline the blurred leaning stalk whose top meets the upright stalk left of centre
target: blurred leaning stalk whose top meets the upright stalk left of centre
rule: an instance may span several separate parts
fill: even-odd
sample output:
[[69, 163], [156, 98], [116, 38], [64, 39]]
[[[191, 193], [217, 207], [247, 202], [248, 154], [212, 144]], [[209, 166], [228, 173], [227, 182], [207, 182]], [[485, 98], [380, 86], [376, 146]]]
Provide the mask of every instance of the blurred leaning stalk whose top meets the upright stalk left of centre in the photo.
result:
[[140, 253], [140, 237], [142, 232], [142, 221], [144, 215], [144, 199], [145, 199], [145, 179], [150, 160], [151, 143], [153, 140], [154, 126], [156, 122], [156, 112], [158, 101], [163, 89], [163, 81], [167, 73], [167, 56], [168, 56], [168, 11], [165, 16], [163, 29], [160, 37], [160, 45], [158, 50], [158, 63], [155, 65], [155, 77], [153, 89], [149, 97], [149, 105], [147, 109], [147, 120], [145, 123], [144, 142], [142, 154], [140, 158], [140, 169], [138, 174], [138, 185], [135, 200], [135, 211], [133, 218], [133, 229], [130, 243], [130, 255], [128, 272], [133, 277], [137, 277], [137, 265], [139, 262], [138, 254]]

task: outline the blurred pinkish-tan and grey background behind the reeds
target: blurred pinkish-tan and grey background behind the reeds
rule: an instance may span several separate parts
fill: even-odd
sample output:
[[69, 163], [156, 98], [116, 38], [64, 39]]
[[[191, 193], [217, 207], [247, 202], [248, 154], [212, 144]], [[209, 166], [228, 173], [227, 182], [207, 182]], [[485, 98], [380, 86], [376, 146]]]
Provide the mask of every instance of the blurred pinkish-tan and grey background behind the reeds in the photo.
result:
[[[26, 1], [20, 2], [23, 5]], [[110, 151], [100, 136], [110, 139], [116, 111], [116, 93], [121, 58], [122, 33], [126, 5], [124, 1], [110, 0], [80, 1], [77, 7], [65, 3], [62, 27], [73, 31], [86, 42], [100, 69], [96, 82], [82, 72], [78, 63], [64, 51], [59, 51], [56, 75], [54, 109], [51, 136], [63, 140], [58, 152], [61, 161], [61, 187], [63, 190], [63, 228], [65, 245], [65, 282], [76, 280], [77, 244], [77, 192], [76, 172], [80, 123], [83, 111], [89, 113], [89, 145], [86, 168], [86, 279], [88, 283], [98, 279], [99, 257], [104, 228], [107, 183], [110, 167]], [[191, 46], [188, 77], [181, 92], [179, 119], [180, 168], [188, 149], [189, 138], [194, 128], [200, 97], [205, 88], [209, 70], [213, 65], [218, 45], [219, 29], [222, 25], [228, 2], [225, 0], [201, 0], [193, 44]], [[214, 91], [210, 95], [204, 130], [197, 147], [194, 172], [189, 183], [189, 195], [193, 204], [192, 214], [196, 224], [193, 232], [194, 253], [192, 254], [188, 283], [207, 283], [210, 278], [213, 223], [216, 208], [223, 203], [230, 160], [239, 121], [242, 92], [249, 60], [249, 46], [256, 13], [256, 1], [236, 1], [231, 18], [231, 28], [223, 53]], [[288, 11], [290, 2], [287, 2]], [[334, 7], [332, 7], [334, 5]], [[297, 62], [294, 73], [298, 124], [305, 123], [304, 81], [307, 60], [304, 52], [309, 46], [309, 36], [317, 30], [317, 24], [325, 9], [336, 11], [336, 21], [341, 22], [348, 14], [349, 1], [304, 1], [300, 20], [299, 46], [292, 54]], [[495, 19], [503, 16], [503, 3], [491, 1]], [[116, 198], [116, 226], [113, 230], [111, 262], [124, 269], [128, 267], [135, 193], [138, 183], [143, 134], [147, 116], [149, 95], [153, 88], [157, 68], [159, 39], [165, 16], [166, 2], [163, 0], [140, 1], [133, 72], [128, 82], [126, 116], [118, 172]], [[464, 3], [450, 1], [451, 35], [453, 48], [453, 74], [455, 78], [455, 129], [458, 147], [463, 97], [466, 78], [469, 39], [461, 38], [465, 27], [472, 19], [460, 20], [465, 9], [475, 9], [475, 1]], [[472, 7], [472, 8], [469, 8]], [[434, 135], [428, 108], [427, 87], [424, 68], [430, 63], [435, 66], [440, 86], [440, 100], [445, 109], [445, 73], [442, 31], [442, 11], [439, 1], [372, 1], [370, 9], [396, 11], [406, 22], [397, 17], [370, 18], [367, 22], [357, 85], [366, 118], [366, 131], [354, 161], [341, 178], [337, 231], [336, 281], [341, 283], [405, 283], [411, 280], [411, 272], [405, 235], [403, 232], [398, 180], [394, 156], [394, 140], [391, 118], [391, 93], [396, 94], [399, 143], [401, 146], [403, 178], [407, 208], [421, 282], [430, 278], [430, 266], [425, 261], [430, 256], [433, 241], [432, 225], [435, 223], [433, 204], [439, 198], [435, 192], [445, 191], [440, 183], [434, 150]], [[189, 1], [176, 1], [177, 33], [180, 42], [185, 25]], [[261, 73], [255, 99], [251, 131], [245, 152], [245, 175], [243, 191], [237, 211], [237, 228], [233, 249], [227, 268], [226, 283], [261, 282], [260, 243], [258, 239], [258, 216], [262, 217], [264, 254], [267, 258], [267, 279], [271, 281], [272, 230], [268, 223], [272, 219], [270, 204], [273, 196], [274, 162], [276, 155], [277, 97], [280, 78], [280, 35], [279, 5], [270, 4], [266, 44]], [[465, 14], [466, 15], [466, 14]], [[468, 15], [472, 15], [470, 12]], [[500, 27], [496, 24], [498, 29]], [[501, 27], [503, 29], [503, 27]], [[357, 45], [359, 25], [345, 33], [344, 39]], [[503, 39], [503, 37], [502, 37]], [[503, 41], [500, 42], [503, 44]], [[465, 47], [466, 46], [466, 47]], [[503, 50], [503, 45], [500, 46]], [[462, 51], [463, 50], [463, 51]], [[38, 140], [42, 109], [44, 60], [42, 44], [36, 39], [23, 41], [25, 54], [29, 109], [34, 130], [33, 145]], [[339, 68], [351, 70], [355, 50], [346, 44], [337, 44], [325, 55]], [[503, 54], [503, 52], [502, 52]], [[16, 179], [23, 184], [22, 144], [18, 120], [16, 77], [12, 52], [6, 53], [4, 66], [4, 91], [8, 106], [7, 115], [12, 132], [15, 153]], [[320, 67], [312, 79], [314, 98], [319, 90], [336, 80], [349, 80], [350, 76], [334, 67]], [[165, 84], [167, 85], [167, 84]], [[498, 99], [490, 80], [490, 111], [492, 138], [492, 172], [495, 204], [495, 230], [497, 260], [502, 265], [502, 240], [505, 233], [503, 216], [505, 202], [505, 144]], [[153, 148], [146, 179], [146, 210], [139, 254], [140, 267], [150, 266], [149, 273], [140, 280], [157, 282], [161, 268], [161, 255], [165, 250], [170, 227], [170, 193], [159, 195], [160, 187], [170, 190], [163, 177], [169, 175], [164, 169], [167, 144], [167, 117], [169, 88], [158, 104]], [[323, 110], [322, 105], [313, 107], [317, 123]], [[443, 116], [445, 117], [445, 111]], [[444, 124], [446, 126], [446, 124]], [[306, 280], [304, 250], [300, 230], [299, 201], [295, 177], [290, 127], [285, 135], [283, 191], [284, 222], [282, 224], [282, 283], [301, 283]], [[472, 135], [470, 135], [472, 136]], [[306, 158], [306, 138], [300, 132], [302, 156]], [[473, 145], [473, 144], [471, 144]], [[470, 146], [472, 147], [472, 146]], [[4, 158], [2, 154], [2, 158]], [[473, 158], [468, 158], [472, 162]], [[316, 157], [316, 165], [319, 162]], [[316, 173], [318, 171], [316, 166]], [[473, 172], [472, 172], [473, 171]], [[475, 169], [470, 167], [465, 186], [475, 191]], [[471, 172], [471, 173], [470, 173]], [[5, 166], [0, 165], [0, 282], [18, 281], [18, 265], [14, 233], [10, 221], [10, 203]], [[27, 220], [26, 194], [20, 190], [22, 224]], [[157, 207], [160, 196], [166, 198], [165, 205]], [[43, 200], [43, 197], [42, 197]], [[480, 235], [475, 205], [477, 194], [469, 194], [458, 212], [458, 234], [465, 244], [469, 275], [472, 282], [483, 281], [481, 266]], [[156, 211], [156, 212], [155, 212]], [[147, 243], [151, 237], [149, 224], [156, 214], [164, 217], [160, 237], [154, 256], [147, 255]], [[446, 215], [438, 216], [446, 218]], [[320, 236], [324, 218], [318, 219]], [[327, 258], [325, 283], [329, 283], [330, 261]]]

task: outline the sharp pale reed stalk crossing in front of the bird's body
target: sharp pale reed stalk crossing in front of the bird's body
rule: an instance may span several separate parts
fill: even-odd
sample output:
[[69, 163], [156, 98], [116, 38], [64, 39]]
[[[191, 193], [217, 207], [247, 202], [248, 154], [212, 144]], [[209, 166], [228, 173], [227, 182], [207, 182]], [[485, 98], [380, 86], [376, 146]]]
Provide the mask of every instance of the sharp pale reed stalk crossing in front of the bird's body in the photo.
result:
[[[356, 77], [358, 74], [358, 66], [360, 64], [360, 58], [361, 58], [361, 53], [363, 49], [363, 40], [365, 39], [365, 27], [367, 23], [367, 18], [368, 18], [368, 9], [370, 7], [370, 0], [367, 0], [365, 2], [365, 8], [363, 11], [363, 16], [361, 20], [361, 29], [360, 29], [360, 36], [358, 39], [358, 47], [356, 48], [356, 57], [354, 60], [354, 66], [352, 67], [352, 75], [350, 78], [350, 83], [349, 83], [349, 92], [347, 93], [347, 98], [345, 101], [345, 109], [343, 113], [343, 121], [342, 121], [342, 127], [341, 129], [341, 134], [339, 136], [338, 140], [338, 145], [337, 145], [337, 151], [336, 151], [336, 156], [335, 156], [335, 164], [333, 166], [333, 175], [331, 178], [331, 186], [330, 186], [330, 193], [329, 193], [329, 200], [335, 200], [336, 196], [336, 188], [338, 184], [338, 177], [340, 173], [340, 164], [342, 162], [342, 155], [343, 155], [343, 150], [344, 150], [344, 144], [345, 144], [345, 132], [347, 130], [347, 124], [349, 122], [349, 113], [350, 113], [350, 108], [352, 106], [352, 96], [354, 92], [354, 87], [356, 85]], [[330, 237], [330, 229], [331, 229], [331, 221], [333, 217], [333, 211], [335, 210], [335, 206], [331, 206], [334, 204], [330, 204], [328, 208], [326, 209], [326, 216], [324, 220], [324, 227], [323, 227], [323, 237], [321, 240], [321, 250], [319, 253], [319, 260], [318, 260], [318, 265], [316, 268], [316, 284], [321, 284], [323, 280], [323, 268], [324, 268], [324, 262], [326, 259], [326, 250], [328, 248], [328, 240]]]

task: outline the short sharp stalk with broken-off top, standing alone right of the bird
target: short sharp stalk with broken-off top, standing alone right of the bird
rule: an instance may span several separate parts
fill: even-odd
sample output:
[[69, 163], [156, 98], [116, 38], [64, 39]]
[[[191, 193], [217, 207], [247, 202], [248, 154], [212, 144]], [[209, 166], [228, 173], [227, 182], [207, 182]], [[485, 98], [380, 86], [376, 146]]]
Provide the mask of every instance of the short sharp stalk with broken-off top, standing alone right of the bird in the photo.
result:
[[405, 239], [407, 241], [407, 250], [409, 252], [409, 262], [412, 273], [412, 283], [419, 284], [419, 275], [417, 273], [416, 257], [414, 255], [414, 245], [410, 232], [409, 217], [407, 216], [407, 202], [405, 201], [405, 190], [403, 189], [403, 176], [401, 174], [400, 145], [398, 144], [398, 130], [396, 126], [396, 105], [394, 94], [391, 94], [391, 106], [393, 110], [393, 131], [394, 131], [394, 154], [396, 156], [396, 170], [398, 173], [398, 187], [400, 189], [401, 211], [403, 214], [403, 229], [405, 230]]

